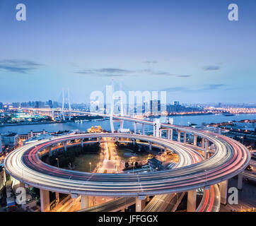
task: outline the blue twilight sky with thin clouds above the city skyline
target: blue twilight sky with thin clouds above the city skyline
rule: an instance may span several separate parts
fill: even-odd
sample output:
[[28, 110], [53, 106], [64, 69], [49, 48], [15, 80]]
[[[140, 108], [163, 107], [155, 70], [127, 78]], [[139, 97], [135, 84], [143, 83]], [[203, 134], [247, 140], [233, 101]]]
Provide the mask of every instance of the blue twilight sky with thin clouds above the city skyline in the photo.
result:
[[112, 78], [168, 102], [256, 102], [256, 1], [0, 0], [0, 102], [59, 100], [62, 88], [88, 102]]

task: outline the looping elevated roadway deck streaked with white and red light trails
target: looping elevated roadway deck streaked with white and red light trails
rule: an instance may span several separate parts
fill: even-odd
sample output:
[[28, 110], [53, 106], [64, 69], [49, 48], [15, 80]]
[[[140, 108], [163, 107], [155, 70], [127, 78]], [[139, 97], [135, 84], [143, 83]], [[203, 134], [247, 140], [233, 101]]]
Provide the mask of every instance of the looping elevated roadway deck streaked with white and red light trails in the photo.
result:
[[[192, 148], [165, 138], [130, 133], [88, 133], [25, 145], [9, 154], [4, 166], [12, 177], [40, 189], [66, 194], [123, 197], [168, 194], [210, 186], [234, 177], [249, 164], [247, 148], [231, 138], [181, 126], [171, 125], [170, 128], [182, 129], [211, 141], [216, 146], [214, 155], [200, 162], [199, 154]], [[137, 139], [170, 148], [180, 156], [180, 167], [136, 174], [95, 174], [60, 169], [40, 160], [40, 150], [55, 143], [97, 137]]]

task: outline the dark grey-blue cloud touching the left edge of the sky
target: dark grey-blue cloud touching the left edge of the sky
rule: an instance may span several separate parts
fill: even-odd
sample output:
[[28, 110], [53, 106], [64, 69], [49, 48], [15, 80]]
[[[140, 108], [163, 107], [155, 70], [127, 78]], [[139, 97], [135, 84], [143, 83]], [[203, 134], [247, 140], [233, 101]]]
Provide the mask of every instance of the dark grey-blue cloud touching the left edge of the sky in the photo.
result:
[[28, 60], [5, 59], [0, 61], [0, 70], [17, 73], [29, 73], [39, 66], [42, 66], [42, 64]]

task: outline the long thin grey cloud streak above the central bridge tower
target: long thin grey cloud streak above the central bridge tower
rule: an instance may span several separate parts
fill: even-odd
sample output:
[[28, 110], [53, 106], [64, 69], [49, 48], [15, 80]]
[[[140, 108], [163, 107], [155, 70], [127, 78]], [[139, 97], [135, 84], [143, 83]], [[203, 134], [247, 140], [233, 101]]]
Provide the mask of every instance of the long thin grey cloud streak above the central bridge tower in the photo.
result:
[[125, 77], [125, 76], [174, 76], [178, 78], [188, 78], [190, 75], [179, 75], [170, 73], [168, 71], [153, 71], [151, 69], [142, 70], [127, 70], [117, 68], [104, 68], [104, 69], [86, 69], [75, 71], [75, 73], [88, 75], [88, 76], [101, 76], [101, 77]]

